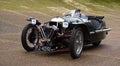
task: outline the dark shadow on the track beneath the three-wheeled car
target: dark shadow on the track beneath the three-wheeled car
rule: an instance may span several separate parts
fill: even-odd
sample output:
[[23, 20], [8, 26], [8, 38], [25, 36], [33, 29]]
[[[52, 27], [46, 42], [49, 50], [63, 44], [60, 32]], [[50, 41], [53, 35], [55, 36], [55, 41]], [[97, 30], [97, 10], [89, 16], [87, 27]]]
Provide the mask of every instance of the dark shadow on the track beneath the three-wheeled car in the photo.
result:
[[[86, 54], [87, 52], [92, 53], [96, 51], [101, 51], [103, 49], [106, 49], [107, 46], [106, 44], [100, 44], [97, 47], [94, 47], [92, 45], [85, 45], [83, 48], [83, 53], [81, 57], [77, 60], [81, 59], [87, 59], [89, 58], [89, 54]], [[40, 51], [33, 51], [33, 52], [25, 52], [26, 55], [32, 55], [38, 58], [49, 58], [49, 59], [56, 59], [59, 58], [60, 60], [72, 60], [70, 56], [70, 51], [62, 51], [62, 52], [54, 52], [54, 53], [45, 53], [45, 52], [40, 52]]]

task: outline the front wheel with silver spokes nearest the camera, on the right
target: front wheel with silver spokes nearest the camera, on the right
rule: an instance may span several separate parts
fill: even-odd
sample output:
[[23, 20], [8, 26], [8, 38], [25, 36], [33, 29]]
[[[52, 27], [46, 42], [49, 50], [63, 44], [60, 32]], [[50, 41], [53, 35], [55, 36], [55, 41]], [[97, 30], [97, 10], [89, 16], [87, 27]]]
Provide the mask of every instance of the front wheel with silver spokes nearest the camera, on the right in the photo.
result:
[[73, 59], [79, 58], [84, 44], [84, 36], [81, 28], [73, 29], [70, 38], [70, 53]]

